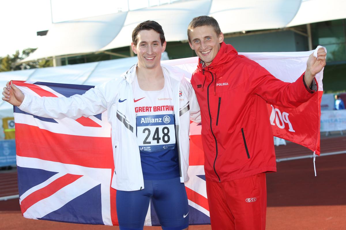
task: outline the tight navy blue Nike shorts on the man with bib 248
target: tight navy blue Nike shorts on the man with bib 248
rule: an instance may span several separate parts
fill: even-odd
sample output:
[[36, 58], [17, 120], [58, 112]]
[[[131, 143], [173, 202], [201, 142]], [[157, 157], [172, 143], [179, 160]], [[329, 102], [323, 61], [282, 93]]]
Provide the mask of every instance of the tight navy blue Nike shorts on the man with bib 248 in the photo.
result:
[[[117, 214], [120, 230], [143, 229], [150, 202], [164, 230], [182, 230], [189, 226], [188, 198], [180, 178], [144, 180], [144, 189], [117, 190]], [[151, 210], [153, 213], [154, 210]]]

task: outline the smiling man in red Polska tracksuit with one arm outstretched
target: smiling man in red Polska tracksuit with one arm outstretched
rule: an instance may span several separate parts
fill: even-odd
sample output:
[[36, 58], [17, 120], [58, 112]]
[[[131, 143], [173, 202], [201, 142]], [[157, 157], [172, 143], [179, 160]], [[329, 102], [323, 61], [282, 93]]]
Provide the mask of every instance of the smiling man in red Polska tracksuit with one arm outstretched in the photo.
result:
[[225, 44], [212, 17], [194, 18], [188, 38], [199, 57], [191, 84], [202, 116], [211, 227], [264, 230], [265, 172], [276, 171], [266, 103], [295, 108], [309, 100], [317, 92], [315, 74], [325, 66], [326, 53], [318, 50], [300, 78], [285, 83]]

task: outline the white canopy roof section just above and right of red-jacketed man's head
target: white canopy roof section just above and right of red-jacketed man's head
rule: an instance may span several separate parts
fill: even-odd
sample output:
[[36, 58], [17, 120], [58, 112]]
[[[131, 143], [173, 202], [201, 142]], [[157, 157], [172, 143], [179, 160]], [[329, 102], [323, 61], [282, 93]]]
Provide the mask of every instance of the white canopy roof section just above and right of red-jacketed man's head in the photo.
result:
[[213, 0], [209, 16], [223, 33], [284, 28], [295, 16], [301, 0]]

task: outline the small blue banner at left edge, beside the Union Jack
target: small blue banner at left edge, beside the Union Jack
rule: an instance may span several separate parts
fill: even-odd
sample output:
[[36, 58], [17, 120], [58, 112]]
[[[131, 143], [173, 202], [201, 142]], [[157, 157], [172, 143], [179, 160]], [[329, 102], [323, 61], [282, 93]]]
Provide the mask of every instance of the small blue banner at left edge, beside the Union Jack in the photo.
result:
[[0, 141], [0, 167], [16, 165], [16, 142], [15, 140]]

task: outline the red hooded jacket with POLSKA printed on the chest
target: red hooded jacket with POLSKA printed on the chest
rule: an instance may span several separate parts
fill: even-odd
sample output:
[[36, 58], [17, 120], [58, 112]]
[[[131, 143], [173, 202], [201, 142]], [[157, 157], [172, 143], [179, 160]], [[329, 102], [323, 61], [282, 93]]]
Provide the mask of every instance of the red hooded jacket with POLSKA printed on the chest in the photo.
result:
[[266, 103], [295, 108], [315, 91], [306, 87], [303, 74], [285, 83], [224, 42], [212, 63], [203, 65], [199, 60], [191, 84], [201, 109], [206, 179], [221, 182], [275, 172]]

